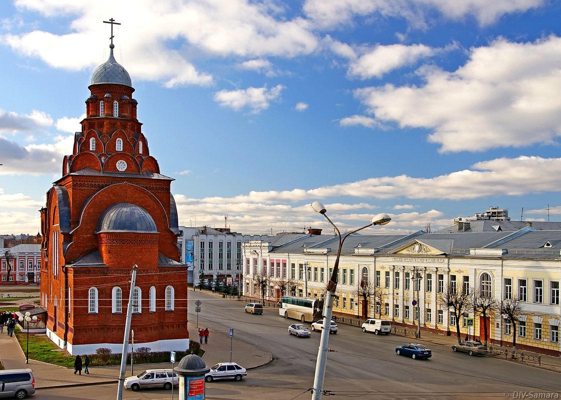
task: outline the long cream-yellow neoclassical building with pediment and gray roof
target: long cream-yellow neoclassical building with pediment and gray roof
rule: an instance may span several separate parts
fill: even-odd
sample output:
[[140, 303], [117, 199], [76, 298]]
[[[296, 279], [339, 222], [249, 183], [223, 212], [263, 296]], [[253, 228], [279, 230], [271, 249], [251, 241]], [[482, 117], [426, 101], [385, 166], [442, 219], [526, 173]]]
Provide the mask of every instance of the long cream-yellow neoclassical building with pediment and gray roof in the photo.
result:
[[[338, 238], [329, 235], [279, 235], [242, 244], [246, 296], [278, 301], [281, 295], [322, 297], [333, 272]], [[452, 310], [439, 301], [449, 286], [474, 290], [497, 301], [516, 296], [523, 311], [516, 332], [498, 312], [484, 320], [467, 310], [461, 333], [493, 343], [561, 355], [559, 284], [561, 230], [453, 231], [410, 235], [351, 235], [339, 260], [338, 299], [333, 313], [379, 317], [393, 324], [456, 334]], [[415, 278], [417, 277], [417, 279]], [[365, 300], [361, 286], [371, 287]], [[416, 305], [413, 305], [416, 304]], [[473, 327], [466, 326], [468, 318]], [[420, 321], [418, 320], [420, 319]]]

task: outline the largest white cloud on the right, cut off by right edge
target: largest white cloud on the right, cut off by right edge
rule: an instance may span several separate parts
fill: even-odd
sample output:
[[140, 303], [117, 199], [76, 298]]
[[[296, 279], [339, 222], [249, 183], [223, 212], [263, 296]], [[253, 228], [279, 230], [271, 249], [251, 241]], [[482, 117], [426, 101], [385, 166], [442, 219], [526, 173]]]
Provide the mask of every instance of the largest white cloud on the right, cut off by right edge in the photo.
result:
[[442, 152], [550, 145], [561, 135], [561, 38], [496, 40], [455, 72], [421, 69], [424, 86], [356, 90], [377, 120], [426, 128]]

